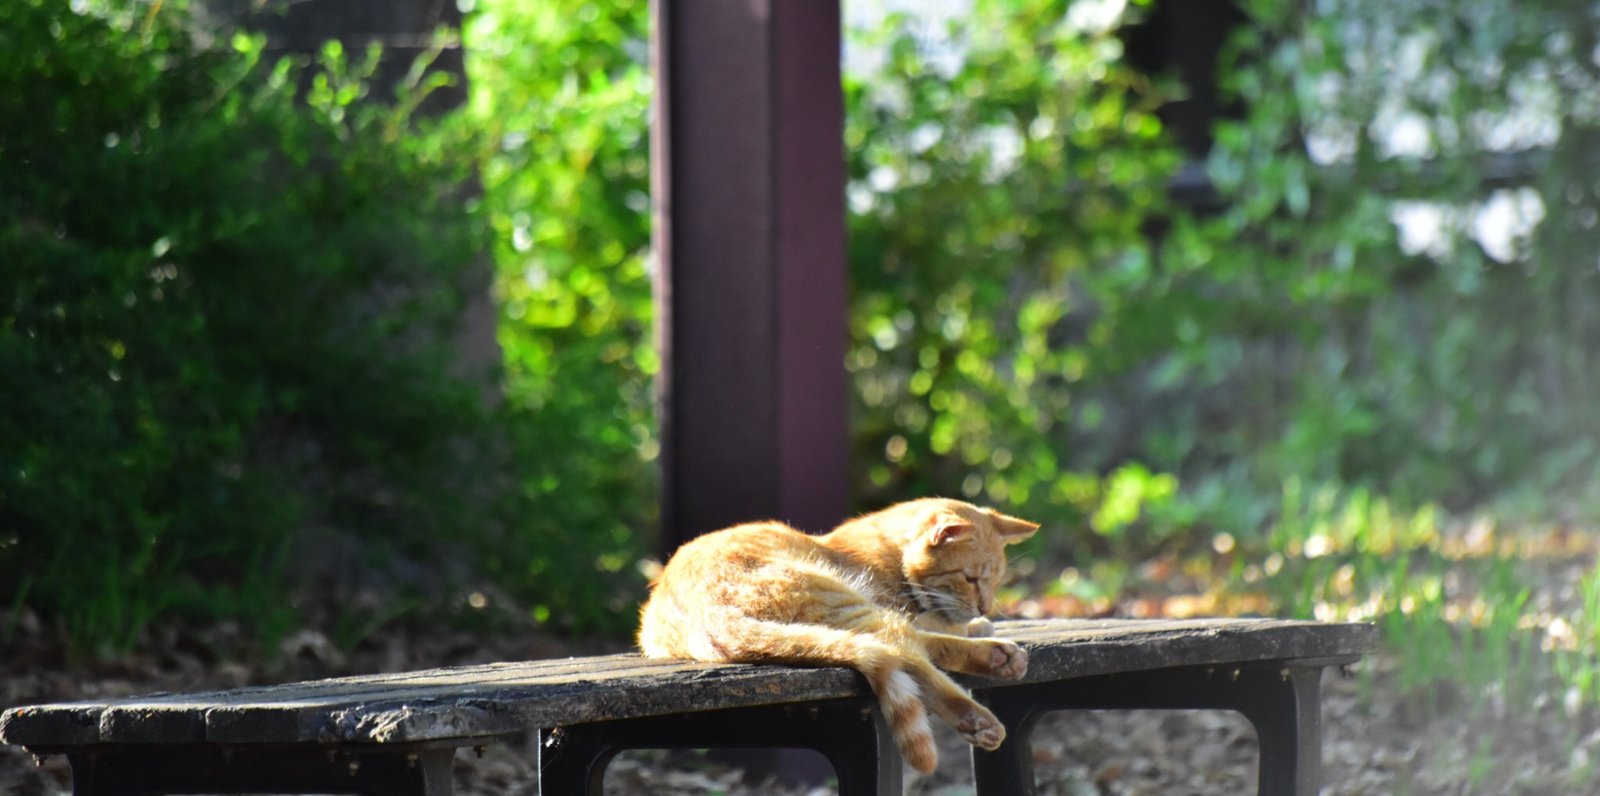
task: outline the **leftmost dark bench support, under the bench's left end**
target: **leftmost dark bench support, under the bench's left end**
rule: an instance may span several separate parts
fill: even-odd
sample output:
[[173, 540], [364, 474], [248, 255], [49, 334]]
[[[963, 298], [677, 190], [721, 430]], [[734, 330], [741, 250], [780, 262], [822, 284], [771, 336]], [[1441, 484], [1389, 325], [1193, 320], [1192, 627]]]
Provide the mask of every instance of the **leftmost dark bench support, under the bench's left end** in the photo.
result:
[[328, 793], [450, 796], [454, 750], [344, 753], [315, 746], [118, 746], [69, 754], [77, 796]]

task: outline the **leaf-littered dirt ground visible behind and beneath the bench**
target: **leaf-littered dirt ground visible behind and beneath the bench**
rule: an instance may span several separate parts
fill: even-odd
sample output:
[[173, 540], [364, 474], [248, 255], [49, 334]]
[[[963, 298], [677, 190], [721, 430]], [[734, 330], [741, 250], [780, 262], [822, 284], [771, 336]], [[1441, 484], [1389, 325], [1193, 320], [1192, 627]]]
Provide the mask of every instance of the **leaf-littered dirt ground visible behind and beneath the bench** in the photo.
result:
[[[402, 671], [490, 660], [565, 657], [621, 649], [619, 643], [576, 644], [538, 635], [475, 636], [450, 631], [382, 631], [354, 652], [339, 652], [317, 633], [285, 641], [274, 663], [254, 665], [232, 628], [165, 630], [147, 649], [112, 662], [69, 663], [40, 636], [3, 649], [0, 708], [133, 695], [286, 683], [347, 673]], [[1354, 673], [1330, 671], [1323, 681], [1323, 778], [1326, 796], [1467, 793], [1592, 793], [1589, 774], [1600, 761], [1600, 730], [1592, 714], [1573, 705], [1502, 705], [1494, 727], [1474, 726], [1450, 700], [1419, 708], [1390, 697], [1394, 679], [1379, 655]], [[1485, 743], [1483, 738], [1493, 738]], [[1222, 711], [1058, 713], [1032, 737], [1040, 794], [1139, 796], [1253, 793], [1256, 740], [1240, 716]], [[528, 742], [491, 746], [482, 759], [456, 761], [456, 791], [470, 796], [536, 793]], [[968, 751], [954, 734], [941, 737], [941, 767], [928, 777], [907, 769], [907, 793], [973, 793]], [[35, 761], [24, 750], [0, 746], [0, 793], [45, 796], [70, 793], [61, 758]], [[632, 794], [778, 794], [832, 793], [826, 782], [750, 782], [742, 770], [704, 753], [638, 751], [618, 758], [606, 793]]]

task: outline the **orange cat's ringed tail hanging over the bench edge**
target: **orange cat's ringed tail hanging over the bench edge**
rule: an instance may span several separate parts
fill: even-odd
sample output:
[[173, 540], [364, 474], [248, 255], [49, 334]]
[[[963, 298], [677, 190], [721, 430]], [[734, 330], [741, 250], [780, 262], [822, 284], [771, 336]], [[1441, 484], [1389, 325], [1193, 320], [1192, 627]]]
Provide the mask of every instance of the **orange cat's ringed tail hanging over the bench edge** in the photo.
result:
[[906, 668], [907, 654], [914, 652], [898, 649], [877, 635], [750, 617], [720, 622], [706, 643], [728, 662], [850, 667], [859, 671], [877, 694], [906, 761], [923, 774], [939, 766], [922, 689]]

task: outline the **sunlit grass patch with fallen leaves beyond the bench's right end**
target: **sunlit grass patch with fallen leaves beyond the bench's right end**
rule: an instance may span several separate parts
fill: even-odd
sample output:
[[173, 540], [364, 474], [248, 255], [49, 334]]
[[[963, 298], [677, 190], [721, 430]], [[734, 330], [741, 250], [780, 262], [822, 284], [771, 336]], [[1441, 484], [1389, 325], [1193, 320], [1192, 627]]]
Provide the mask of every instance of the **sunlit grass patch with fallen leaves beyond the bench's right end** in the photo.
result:
[[1600, 571], [1582, 534], [1290, 483], [1258, 553], [1259, 574], [1235, 569], [1227, 588], [1264, 593], [1282, 615], [1374, 622], [1389, 694], [1368, 675], [1368, 700], [1474, 727], [1438, 738], [1450, 748], [1432, 764], [1456, 774], [1437, 777], [1462, 777], [1467, 793], [1523, 793], [1534, 775], [1506, 770], [1502, 751], [1528, 743], [1530, 711], [1554, 719], [1542, 743], [1558, 746], [1546, 753], [1557, 778], [1594, 767], [1582, 727], [1600, 705]]

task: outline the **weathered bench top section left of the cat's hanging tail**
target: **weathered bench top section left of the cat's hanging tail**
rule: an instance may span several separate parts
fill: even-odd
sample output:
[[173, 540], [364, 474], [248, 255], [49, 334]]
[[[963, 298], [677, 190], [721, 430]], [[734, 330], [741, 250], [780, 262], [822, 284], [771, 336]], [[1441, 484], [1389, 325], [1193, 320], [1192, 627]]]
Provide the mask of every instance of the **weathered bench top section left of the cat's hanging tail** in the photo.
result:
[[[806, 683], [797, 684], [795, 678]], [[458, 727], [461, 737], [480, 737], [645, 714], [629, 710], [635, 703], [659, 705], [654, 713], [675, 713], [866, 694], [848, 670], [707, 667], [610, 655], [51, 705], [6, 714], [0, 738], [24, 745], [435, 740], [445, 727]], [[669, 692], [651, 694], [662, 687]], [[786, 698], [786, 692], [794, 697]], [[507, 713], [512, 703], [538, 710]], [[386, 714], [352, 719], [366, 713]], [[506, 722], [506, 716], [518, 714], [520, 724]], [[411, 719], [402, 721], [403, 716]]]

